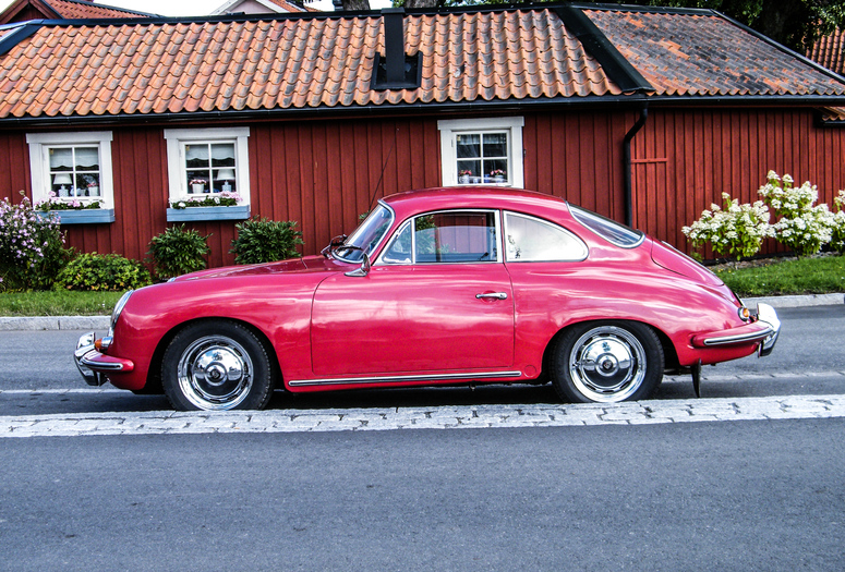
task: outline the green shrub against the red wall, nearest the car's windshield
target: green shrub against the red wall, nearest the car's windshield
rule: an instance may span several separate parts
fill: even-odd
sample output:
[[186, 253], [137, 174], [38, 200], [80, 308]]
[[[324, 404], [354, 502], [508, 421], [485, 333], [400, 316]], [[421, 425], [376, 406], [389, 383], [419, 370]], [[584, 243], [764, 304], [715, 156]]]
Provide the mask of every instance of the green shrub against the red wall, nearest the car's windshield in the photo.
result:
[[283, 260], [300, 256], [297, 246], [302, 242], [302, 233], [293, 230], [295, 221], [275, 221], [263, 218], [245, 220], [234, 226], [238, 236], [232, 241], [234, 261], [238, 264], [258, 264]]

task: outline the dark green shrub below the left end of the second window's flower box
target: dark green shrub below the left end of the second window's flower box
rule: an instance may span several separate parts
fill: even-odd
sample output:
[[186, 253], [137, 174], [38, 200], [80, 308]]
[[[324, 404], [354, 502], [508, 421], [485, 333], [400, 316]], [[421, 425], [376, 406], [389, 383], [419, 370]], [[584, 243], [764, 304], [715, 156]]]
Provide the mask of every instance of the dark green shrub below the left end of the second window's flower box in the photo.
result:
[[[210, 234], [208, 234], [210, 236]], [[170, 227], [149, 241], [149, 254], [156, 277], [167, 280], [174, 276], [202, 270], [207, 266], [204, 256], [212, 252], [203, 236], [185, 226]]]

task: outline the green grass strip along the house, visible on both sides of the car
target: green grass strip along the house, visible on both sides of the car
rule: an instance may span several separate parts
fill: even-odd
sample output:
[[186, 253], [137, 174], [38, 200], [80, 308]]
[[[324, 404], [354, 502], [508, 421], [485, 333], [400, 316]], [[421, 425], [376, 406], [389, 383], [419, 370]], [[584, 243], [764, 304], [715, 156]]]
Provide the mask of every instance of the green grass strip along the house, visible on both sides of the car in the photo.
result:
[[[746, 261], [712, 268], [740, 297], [845, 292], [845, 256]], [[0, 293], [0, 316], [108, 316], [122, 292]]]

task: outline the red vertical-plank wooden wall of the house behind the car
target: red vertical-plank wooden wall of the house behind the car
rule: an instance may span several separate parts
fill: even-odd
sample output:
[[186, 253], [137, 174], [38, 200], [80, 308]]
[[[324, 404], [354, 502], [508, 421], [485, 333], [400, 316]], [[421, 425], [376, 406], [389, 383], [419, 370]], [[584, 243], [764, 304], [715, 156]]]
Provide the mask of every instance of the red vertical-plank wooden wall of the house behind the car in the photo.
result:
[[[632, 111], [526, 113], [524, 181], [616, 220], [624, 219], [623, 138]], [[373, 197], [437, 186], [439, 118], [312, 120], [250, 125], [252, 215], [295, 220], [304, 254], [351, 232]], [[105, 127], [97, 127], [105, 129]], [[114, 127], [116, 219], [67, 226], [68, 244], [83, 252], [146, 256], [168, 223], [164, 126]], [[633, 138], [635, 226], [688, 251], [680, 229], [720, 202], [723, 190], [757, 199], [765, 172], [789, 173], [819, 185], [832, 205], [845, 187], [845, 131], [819, 129], [808, 110], [650, 110]], [[0, 132], [0, 197], [31, 194], [25, 133]], [[210, 234], [210, 266], [228, 253], [234, 222], [186, 223]], [[773, 244], [768, 245], [774, 248]]]

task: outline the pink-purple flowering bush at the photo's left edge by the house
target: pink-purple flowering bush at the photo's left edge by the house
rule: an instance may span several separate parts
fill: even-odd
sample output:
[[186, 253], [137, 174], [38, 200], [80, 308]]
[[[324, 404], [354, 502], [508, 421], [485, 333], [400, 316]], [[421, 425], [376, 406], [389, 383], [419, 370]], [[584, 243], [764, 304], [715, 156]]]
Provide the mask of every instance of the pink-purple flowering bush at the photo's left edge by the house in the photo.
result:
[[[23, 194], [23, 193], [22, 193]], [[0, 202], [0, 291], [52, 287], [68, 256], [55, 217], [43, 218], [24, 199]]]

